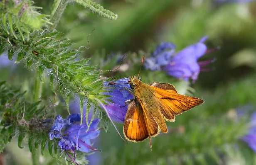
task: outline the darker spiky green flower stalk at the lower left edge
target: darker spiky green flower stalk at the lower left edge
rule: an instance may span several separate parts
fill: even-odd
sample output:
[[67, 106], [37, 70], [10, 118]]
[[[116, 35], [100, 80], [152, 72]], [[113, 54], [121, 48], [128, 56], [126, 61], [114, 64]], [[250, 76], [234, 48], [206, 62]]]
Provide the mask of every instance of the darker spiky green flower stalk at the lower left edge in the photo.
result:
[[[48, 113], [46, 119], [47, 107], [40, 101], [27, 102], [24, 95], [25, 92], [0, 82], [0, 153], [7, 143], [17, 137], [19, 148], [24, 148], [22, 143], [27, 141], [30, 152], [37, 156], [37, 150], [44, 155], [47, 147], [49, 154], [55, 159], [53, 162], [64, 163], [63, 153], [59, 150], [57, 143], [49, 140], [48, 132], [55, 119], [54, 113]], [[88, 164], [85, 155], [88, 154], [77, 151], [77, 162]]]

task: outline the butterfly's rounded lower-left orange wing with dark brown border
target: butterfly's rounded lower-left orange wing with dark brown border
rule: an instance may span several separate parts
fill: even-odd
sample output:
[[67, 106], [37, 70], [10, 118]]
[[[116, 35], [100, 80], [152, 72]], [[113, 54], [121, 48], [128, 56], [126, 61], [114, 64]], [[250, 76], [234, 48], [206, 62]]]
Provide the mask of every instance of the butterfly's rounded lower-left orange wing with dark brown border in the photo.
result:
[[128, 105], [123, 125], [123, 133], [128, 141], [140, 142], [148, 138], [148, 128], [144, 119], [143, 109], [134, 100]]

